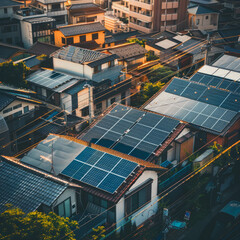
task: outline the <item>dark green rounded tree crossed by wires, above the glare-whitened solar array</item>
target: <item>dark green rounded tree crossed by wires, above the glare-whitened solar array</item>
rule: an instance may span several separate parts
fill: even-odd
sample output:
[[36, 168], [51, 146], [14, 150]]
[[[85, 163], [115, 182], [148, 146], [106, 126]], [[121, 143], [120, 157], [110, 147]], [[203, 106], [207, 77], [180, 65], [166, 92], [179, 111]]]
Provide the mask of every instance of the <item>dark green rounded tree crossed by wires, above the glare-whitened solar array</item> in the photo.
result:
[[156, 81], [161, 81], [166, 83], [174, 75], [174, 72], [168, 67], [163, 67], [163, 66], [159, 67], [158, 65], [153, 67], [152, 69], [154, 69], [154, 71], [148, 74], [148, 80], [152, 83]]

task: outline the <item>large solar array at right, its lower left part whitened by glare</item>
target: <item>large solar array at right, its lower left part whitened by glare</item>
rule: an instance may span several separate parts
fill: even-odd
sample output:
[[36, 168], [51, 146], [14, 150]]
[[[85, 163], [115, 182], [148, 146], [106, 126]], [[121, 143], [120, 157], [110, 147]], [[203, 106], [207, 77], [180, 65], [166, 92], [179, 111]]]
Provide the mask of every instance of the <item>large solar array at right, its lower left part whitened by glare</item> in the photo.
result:
[[239, 95], [175, 78], [146, 109], [222, 132], [240, 110], [239, 101]]

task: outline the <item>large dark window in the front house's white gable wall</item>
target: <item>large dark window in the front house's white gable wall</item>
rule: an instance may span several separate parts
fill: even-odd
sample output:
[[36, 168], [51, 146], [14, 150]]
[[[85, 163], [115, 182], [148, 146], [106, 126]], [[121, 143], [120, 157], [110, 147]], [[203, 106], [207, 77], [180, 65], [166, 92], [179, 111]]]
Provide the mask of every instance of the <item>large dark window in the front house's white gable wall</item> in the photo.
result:
[[151, 188], [152, 179], [149, 179], [139, 187], [140, 190], [133, 191], [129, 195], [126, 195], [125, 210], [127, 215], [141, 208], [151, 200]]

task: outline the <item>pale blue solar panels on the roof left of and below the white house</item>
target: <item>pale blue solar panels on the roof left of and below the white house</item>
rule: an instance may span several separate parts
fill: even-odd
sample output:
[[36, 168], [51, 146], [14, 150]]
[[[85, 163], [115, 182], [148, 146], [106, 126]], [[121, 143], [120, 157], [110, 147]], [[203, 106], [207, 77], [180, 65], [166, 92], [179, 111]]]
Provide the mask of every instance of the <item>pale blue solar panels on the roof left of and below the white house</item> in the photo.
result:
[[35, 74], [30, 75], [27, 81], [46, 88], [54, 89], [70, 81], [71, 79], [73, 79], [73, 77], [67, 74], [51, 70], [40, 70], [37, 71]]

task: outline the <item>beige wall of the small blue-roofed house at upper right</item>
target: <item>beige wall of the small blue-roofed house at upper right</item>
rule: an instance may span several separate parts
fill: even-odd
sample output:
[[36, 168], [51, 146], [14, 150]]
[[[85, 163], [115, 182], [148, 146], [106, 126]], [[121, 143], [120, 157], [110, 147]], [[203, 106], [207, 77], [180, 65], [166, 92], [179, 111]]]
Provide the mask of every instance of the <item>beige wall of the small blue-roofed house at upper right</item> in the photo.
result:
[[[199, 30], [217, 30], [219, 14], [189, 14], [188, 24], [190, 28]], [[213, 20], [214, 19], [214, 20]], [[197, 22], [199, 23], [197, 24]]]

